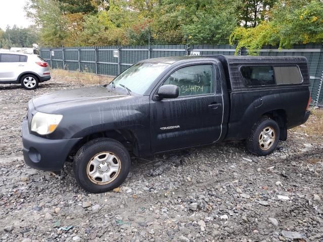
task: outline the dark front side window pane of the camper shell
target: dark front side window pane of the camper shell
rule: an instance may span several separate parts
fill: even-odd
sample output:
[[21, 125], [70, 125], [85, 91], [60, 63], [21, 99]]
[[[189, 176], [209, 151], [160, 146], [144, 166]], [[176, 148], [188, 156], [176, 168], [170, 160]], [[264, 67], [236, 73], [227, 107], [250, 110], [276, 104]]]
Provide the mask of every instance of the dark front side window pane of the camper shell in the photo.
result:
[[275, 85], [272, 66], [242, 66], [240, 71], [247, 86]]

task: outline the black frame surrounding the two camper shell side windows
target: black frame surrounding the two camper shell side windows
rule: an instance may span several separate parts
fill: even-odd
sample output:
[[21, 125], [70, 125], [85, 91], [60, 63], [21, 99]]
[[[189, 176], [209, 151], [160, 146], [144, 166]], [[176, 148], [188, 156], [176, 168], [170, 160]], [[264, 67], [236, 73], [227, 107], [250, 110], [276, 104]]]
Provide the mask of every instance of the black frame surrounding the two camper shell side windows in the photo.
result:
[[[274, 74], [275, 84], [272, 84], [272, 85], [259, 85], [259, 86], [250, 86], [250, 85], [247, 85], [246, 79], [243, 77], [242, 72], [241, 72], [241, 68], [242, 67], [272, 67], [273, 74]], [[290, 84], [277, 84], [275, 67], [297, 67], [298, 68], [298, 71], [299, 71], [299, 74], [300, 74], [300, 76], [302, 78], [302, 82], [300, 82], [300, 83], [290, 83]], [[275, 86], [301, 85], [304, 82], [304, 78], [303, 78], [302, 72], [301, 72], [301, 70], [299, 68], [299, 65], [297, 65], [297, 64], [292, 65], [292, 64], [288, 64], [288, 63], [286, 63], [285, 65], [284, 64], [283, 65], [277, 65], [277, 64], [270, 64], [270, 65], [265, 65], [265, 64], [259, 64], [259, 65], [240, 65], [239, 66], [239, 75], [240, 75], [240, 77], [243, 80], [242, 81], [243, 85], [245, 87], [250, 87], [250, 88], [264, 88], [264, 87], [275, 87]]]

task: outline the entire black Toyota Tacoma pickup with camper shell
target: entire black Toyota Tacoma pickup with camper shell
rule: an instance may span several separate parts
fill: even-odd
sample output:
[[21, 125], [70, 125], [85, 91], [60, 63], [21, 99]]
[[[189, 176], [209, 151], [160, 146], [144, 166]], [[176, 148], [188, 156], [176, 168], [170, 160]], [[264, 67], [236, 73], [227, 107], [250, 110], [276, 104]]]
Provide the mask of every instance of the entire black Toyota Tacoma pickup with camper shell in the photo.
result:
[[141, 61], [105, 86], [33, 98], [23, 120], [25, 162], [59, 171], [74, 159], [93, 193], [120, 186], [130, 155], [151, 156], [229, 140], [272, 153], [310, 112], [301, 56], [177, 56]]

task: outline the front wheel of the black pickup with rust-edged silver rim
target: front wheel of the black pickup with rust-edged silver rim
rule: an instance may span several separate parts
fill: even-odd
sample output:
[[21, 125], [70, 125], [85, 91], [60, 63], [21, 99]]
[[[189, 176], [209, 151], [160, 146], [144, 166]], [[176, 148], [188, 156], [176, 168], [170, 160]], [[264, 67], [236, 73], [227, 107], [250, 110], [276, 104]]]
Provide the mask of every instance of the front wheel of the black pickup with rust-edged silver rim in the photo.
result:
[[120, 142], [109, 138], [94, 139], [83, 145], [73, 163], [76, 182], [90, 193], [104, 193], [118, 188], [127, 178], [129, 169], [128, 150]]

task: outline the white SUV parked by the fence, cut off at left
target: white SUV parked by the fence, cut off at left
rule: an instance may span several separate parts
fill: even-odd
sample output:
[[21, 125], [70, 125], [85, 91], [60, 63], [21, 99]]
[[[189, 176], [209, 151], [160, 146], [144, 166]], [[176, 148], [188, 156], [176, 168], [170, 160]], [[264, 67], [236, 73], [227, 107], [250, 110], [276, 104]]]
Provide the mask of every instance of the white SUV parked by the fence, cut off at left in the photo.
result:
[[0, 52], [0, 84], [21, 84], [32, 90], [48, 81], [48, 64], [35, 54]]

